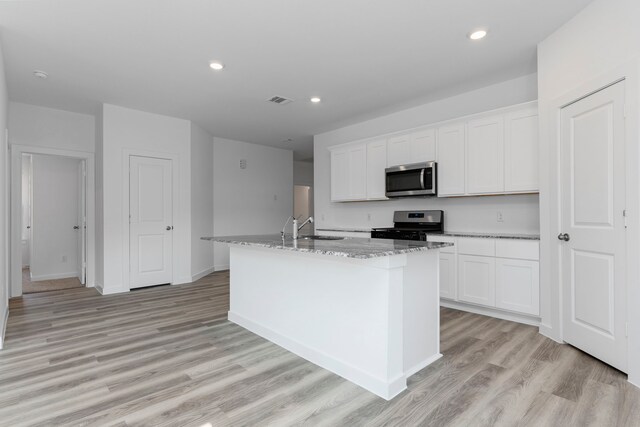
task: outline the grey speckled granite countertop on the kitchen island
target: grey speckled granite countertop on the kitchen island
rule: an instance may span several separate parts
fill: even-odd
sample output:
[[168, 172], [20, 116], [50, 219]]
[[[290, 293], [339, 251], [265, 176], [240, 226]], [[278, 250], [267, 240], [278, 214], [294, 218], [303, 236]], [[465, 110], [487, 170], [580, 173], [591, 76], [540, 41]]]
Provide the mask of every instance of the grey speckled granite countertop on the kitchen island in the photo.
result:
[[359, 237], [345, 238], [342, 240], [298, 239], [297, 241], [294, 241], [291, 236], [285, 236], [283, 240], [282, 237], [277, 234], [202, 237], [202, 240], [357, 259], [370, 259], [391, 255], [401, 255], [411, 252], [423, 252], [429, 249], [439, 249], [446, 246], [452, 246], [451, 243], [366, 239]]

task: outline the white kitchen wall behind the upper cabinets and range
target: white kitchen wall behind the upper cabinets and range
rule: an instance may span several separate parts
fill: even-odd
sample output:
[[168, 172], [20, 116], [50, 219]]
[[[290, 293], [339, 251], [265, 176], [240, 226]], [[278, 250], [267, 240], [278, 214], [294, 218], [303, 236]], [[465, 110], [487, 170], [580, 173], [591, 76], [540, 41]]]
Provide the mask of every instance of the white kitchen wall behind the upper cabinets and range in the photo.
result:
[[[316, 135], [314, 137], [315, 228], [391, 226], [395, 210], [443, 209], [445, 228], [448, 230], [538, 233], [537, 195], [331, 203], [331, 157], [328, 150], [332, 145], [532, 101], [536, 97], [536, 75], [528, 75]], [[503, 222], [497, 222], [498, 211], [503, 214]], [[369, 215], [371, 220], [368, 220]]]

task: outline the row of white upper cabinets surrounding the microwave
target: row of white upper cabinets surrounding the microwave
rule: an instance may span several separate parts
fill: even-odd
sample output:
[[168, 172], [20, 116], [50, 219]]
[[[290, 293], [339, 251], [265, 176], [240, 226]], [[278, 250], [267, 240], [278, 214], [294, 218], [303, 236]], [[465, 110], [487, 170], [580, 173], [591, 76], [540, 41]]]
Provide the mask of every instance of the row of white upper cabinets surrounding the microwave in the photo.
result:
[[384, 200], [386, 167], [432, 160], [439, 197], [537, 192], [538, 146], [535, 102], [334, 146], [331, 200]]

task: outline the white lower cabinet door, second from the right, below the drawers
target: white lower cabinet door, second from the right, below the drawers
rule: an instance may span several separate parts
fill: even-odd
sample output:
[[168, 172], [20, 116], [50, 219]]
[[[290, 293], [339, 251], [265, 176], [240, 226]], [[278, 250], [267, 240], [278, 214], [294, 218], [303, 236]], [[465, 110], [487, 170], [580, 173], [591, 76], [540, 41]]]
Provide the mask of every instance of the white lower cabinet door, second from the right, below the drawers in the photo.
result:
[[458, 300], [495, 307], [496, 259], [458, 255]]

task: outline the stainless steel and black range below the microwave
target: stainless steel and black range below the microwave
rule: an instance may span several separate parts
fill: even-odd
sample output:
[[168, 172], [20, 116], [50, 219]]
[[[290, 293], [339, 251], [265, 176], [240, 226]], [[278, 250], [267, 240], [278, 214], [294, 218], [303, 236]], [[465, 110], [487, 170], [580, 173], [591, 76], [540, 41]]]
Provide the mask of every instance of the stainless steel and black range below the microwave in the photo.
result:
[[374, 239], [427, 240], [427, 234], [444, 233], [444, 211], [395, 211], [393, 227], [374, 228]]

